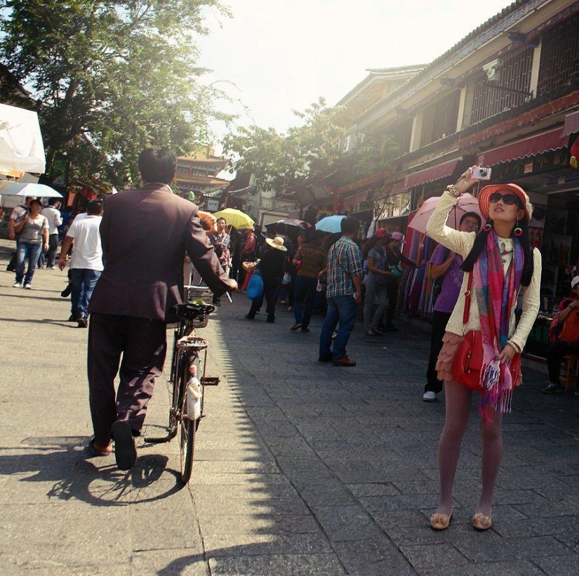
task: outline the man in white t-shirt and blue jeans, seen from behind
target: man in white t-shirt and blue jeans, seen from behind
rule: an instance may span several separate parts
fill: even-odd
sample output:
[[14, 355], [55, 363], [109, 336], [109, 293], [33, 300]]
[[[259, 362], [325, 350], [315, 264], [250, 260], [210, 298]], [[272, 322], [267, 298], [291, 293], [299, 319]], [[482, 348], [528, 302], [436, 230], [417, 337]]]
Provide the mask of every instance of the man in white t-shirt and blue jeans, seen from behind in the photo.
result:
[[86, 328], [88, 303], [93, 289], [100, 278], [102, 265], [102, 246], [100, 244], [100, 221], [102, 220], [102, 202], [88, 202], [85, 218], [75, 218], [62, 242], [58, 268], [64, 270], [66, 254], [74, 240], [74, 251], [70, 261], [72, 280], [72, 316], [79, 323], [79, 328]]

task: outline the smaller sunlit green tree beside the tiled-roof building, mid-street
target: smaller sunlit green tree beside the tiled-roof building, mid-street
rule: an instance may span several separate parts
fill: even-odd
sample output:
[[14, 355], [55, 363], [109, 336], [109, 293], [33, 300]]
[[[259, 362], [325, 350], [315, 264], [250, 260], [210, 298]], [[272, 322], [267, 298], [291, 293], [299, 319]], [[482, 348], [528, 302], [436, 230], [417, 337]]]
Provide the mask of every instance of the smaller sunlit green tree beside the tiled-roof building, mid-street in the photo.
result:
[[278, 193], [300, 188], [327, 169], [338, 154], [342, 129], [336, 124], [339, 110], [319, 98], [305, 112], [293, 111], [300, 119], [287, 133], [259, 126], [240, 127], [223, 140], [232, 171], [251, 172], [259, 189]]

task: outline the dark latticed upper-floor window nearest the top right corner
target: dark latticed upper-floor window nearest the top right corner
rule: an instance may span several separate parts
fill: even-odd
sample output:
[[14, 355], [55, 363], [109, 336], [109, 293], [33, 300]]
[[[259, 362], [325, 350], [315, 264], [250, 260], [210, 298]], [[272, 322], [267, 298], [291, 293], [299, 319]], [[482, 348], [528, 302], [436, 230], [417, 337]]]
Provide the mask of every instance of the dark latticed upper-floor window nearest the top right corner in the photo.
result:
[[543, 34], [537, 93], [579, 79], [579, 13]]

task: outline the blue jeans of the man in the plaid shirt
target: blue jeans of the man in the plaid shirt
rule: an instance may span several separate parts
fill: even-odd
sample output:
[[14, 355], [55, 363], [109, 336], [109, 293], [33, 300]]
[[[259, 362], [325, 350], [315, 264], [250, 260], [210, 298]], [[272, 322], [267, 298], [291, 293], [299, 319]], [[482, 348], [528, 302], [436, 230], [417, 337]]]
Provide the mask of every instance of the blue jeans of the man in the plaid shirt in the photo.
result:
[[[346, 356], [346, 345], [356, 322], [357, 306], [352, 294], [346, 296], [331, 296], [328, 298], [328, 312], [319, 335], [319, 358], [328, 358], [332, 353], [332, 360], [340, 360]], [[340, 322], [338, 336], [332, 346], [332, 333]]]

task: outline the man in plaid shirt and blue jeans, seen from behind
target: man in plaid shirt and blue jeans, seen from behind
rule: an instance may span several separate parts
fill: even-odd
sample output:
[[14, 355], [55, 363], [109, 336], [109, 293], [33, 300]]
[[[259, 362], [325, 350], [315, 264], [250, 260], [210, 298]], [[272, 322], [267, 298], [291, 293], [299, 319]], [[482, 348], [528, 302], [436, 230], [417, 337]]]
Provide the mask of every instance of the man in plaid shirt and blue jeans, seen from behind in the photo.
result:
[[[356, 321], [357, 304], [360, 302], [362, 287], [362, 261], [360, 249], [354, 237], [358, 233], [360, 222], [357, 218], [342, 220], [342, 237], [328, 251], [328, 312], [319, 337], [320, 362], [332, 362], [334, 366], [355, 366], [346, 353]], [[332, 346], [332, 334], [338, 325], [338, 335]]]

